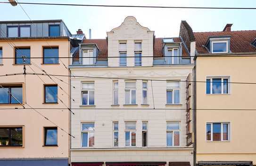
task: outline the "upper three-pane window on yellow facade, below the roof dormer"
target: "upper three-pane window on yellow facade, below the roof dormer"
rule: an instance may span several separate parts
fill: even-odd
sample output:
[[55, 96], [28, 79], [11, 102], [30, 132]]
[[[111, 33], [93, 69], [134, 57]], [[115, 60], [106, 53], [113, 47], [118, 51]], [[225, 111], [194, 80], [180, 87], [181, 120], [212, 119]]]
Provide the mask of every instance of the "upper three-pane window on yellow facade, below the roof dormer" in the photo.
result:
[[229, 94], [230, 76], [206, 77], [206, 94]]

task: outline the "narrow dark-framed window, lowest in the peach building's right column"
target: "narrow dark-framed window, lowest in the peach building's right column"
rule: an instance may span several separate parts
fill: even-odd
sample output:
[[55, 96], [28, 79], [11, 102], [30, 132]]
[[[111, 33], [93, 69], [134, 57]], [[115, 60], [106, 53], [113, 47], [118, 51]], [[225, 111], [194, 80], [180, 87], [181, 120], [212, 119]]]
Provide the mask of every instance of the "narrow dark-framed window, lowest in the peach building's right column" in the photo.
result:
[[58, 145], [58, 129], [57, 127], [44, 128], [44, 146]]

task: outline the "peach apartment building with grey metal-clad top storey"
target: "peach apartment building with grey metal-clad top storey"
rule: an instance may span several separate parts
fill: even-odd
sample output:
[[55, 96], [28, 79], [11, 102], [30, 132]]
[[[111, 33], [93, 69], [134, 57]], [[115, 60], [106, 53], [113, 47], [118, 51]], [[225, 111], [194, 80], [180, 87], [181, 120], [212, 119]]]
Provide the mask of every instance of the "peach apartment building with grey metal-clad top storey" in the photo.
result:
[[1, 166], [68, 166], [69, 77], [29, 73], [69, 75], [70, 37], [62, 20], [0, 22], [0, 75], [23, 56], [27, 73], [0, 77]]

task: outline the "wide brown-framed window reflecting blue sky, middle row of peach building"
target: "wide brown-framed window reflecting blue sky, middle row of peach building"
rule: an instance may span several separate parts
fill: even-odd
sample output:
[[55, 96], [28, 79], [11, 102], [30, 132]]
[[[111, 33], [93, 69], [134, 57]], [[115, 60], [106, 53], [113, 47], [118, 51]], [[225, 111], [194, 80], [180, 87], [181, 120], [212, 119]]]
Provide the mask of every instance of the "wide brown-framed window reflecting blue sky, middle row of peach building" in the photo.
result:
[[23, 103], [22, 85], [2, 86], [3, 88], [0, 87], [0, 104]]

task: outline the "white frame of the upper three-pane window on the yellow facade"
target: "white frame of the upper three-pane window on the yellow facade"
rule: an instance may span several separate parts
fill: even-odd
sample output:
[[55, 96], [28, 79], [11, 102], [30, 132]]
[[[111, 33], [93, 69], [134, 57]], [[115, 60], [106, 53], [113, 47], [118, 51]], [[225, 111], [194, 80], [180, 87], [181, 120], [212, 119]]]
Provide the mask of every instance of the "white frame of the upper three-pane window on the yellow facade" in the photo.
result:
[[[221, 93], [213, 93], [213, 78], [221, 78]], [[207, 93], [207, 83], [206, 83], [206, 95], [228, 95], [231, 94], [231, 76], [230, 75], [207, 75], [206, 81], [210, 80], [210, 93]], [[228, 93], [223, 93], [223, 79], [228, 79]]]

